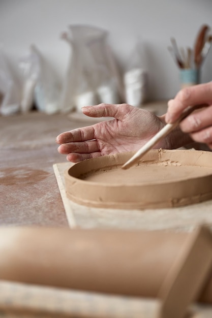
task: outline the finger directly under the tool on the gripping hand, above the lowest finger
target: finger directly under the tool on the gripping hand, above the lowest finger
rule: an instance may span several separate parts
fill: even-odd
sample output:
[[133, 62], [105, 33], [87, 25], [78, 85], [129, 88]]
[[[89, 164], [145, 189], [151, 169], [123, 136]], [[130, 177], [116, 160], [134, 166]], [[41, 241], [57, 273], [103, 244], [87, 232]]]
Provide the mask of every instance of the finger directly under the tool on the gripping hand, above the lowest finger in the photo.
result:
[[198, 110], [180, 123], [180, 129], [184, 133], [198, 132], [212, 125], [212, 105]]

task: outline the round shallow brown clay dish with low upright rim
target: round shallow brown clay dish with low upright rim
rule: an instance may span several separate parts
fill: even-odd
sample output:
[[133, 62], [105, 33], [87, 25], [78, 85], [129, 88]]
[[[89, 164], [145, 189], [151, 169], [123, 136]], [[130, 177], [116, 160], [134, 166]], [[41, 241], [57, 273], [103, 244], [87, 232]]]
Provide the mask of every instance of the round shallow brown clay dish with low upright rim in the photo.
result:
[[72, 201], [92, 207], [145, 209], [212, 199], [212, 152], [150, 150], [128, 170], [132, 152], [82, 161], [65, 172]]

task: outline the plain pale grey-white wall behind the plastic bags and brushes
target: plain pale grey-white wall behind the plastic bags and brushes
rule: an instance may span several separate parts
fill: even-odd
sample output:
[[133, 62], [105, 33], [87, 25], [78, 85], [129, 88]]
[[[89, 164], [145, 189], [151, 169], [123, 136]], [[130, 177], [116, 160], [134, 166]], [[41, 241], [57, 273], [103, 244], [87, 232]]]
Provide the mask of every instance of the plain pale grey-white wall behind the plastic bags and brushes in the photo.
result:
[[[125, 65], [136, 43], [149, 74], [149, 99], [167, 99], [179, 88], [178, 69], [167, 46], [193, 46], [201, 24], [212, 25], [211, 0], [0, 0], [0, 43], [13, 60], [35, 43], [63, 79], [67, 43], [59, 39], [69, 24], [90, 24], [109, 31], [109, 43]], [[212, 49], [202, 82], [212, 80]]]

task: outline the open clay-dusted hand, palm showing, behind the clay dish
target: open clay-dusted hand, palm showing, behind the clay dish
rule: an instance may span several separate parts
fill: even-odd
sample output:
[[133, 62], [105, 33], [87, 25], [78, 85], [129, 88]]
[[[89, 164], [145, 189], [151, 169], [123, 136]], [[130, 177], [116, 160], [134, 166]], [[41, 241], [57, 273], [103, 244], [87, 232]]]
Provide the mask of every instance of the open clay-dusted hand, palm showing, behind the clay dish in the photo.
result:
[[[83, 107], [90, 117], [114, 117], [91, 126], [60, 134], [58, 152], [73, 163], [116, 152], [136, 151], [161, 128], [165, 121], [153, 113], [127, 104]], [[155, 148], [170, 148], [168, 139]]]

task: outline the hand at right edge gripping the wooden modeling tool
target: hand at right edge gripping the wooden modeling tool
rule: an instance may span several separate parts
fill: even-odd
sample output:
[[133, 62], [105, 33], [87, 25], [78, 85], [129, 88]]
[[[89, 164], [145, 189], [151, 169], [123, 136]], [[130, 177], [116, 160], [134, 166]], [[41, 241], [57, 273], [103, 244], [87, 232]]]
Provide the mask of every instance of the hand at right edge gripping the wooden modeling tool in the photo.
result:
[[[199, 84], [180, 90], [173, 100], [168, 102], [166, 122], [173, 122], [188, 106], [202, 105], [180, 123], [180, 129], [200, 143], [212, 149], [212, 82]], [[206, 106], [206, 107], [205, 107]]]

